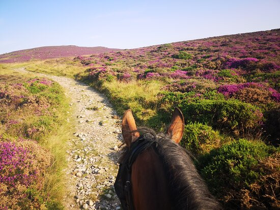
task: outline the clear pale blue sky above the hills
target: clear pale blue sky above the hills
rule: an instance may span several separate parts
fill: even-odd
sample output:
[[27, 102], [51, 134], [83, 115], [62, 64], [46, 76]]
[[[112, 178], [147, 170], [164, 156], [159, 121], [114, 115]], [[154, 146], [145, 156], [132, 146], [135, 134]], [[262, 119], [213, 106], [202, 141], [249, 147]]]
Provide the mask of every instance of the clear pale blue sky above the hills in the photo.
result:
[[0, 53], [49, 45], [137, 48], [280, 27], [279, 0], [0, 0]]

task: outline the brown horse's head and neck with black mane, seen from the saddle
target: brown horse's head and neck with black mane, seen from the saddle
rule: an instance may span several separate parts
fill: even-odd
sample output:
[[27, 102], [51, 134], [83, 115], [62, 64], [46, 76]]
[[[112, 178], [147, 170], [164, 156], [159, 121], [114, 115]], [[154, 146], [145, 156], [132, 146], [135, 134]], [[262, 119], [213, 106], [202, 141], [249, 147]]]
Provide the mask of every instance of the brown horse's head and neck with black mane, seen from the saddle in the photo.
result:
[[136, 128], [128, 109], [122, 120], [125, 149], [114, 184], [124, 210], [222, 209], [179, 145], [184, 116], [175, 108], [166, 134]]

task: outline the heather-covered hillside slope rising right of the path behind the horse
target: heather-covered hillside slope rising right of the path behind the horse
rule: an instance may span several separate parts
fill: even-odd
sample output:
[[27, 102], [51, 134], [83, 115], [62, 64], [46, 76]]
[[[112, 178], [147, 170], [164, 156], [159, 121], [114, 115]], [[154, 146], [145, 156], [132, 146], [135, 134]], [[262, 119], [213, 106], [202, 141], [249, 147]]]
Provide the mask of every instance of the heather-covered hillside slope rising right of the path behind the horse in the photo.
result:
[[174, 107], [180, 144], [226, 209], [279, 209], [280, 30], [77, 56], [77, 78], [119, 113], [162, 131]]

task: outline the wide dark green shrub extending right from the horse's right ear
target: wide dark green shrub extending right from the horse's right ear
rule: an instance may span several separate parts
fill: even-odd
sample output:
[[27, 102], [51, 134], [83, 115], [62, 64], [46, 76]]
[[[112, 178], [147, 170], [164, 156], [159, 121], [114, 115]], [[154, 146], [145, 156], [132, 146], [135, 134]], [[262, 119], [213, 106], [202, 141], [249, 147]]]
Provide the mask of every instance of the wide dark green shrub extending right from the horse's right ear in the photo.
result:
[[236, 135], [258, 127], [263, 119], [257, 107], [238, 100], [182, 100], [178, 107], [187, 122], [200, 122], [216, 129], [233, 131]]

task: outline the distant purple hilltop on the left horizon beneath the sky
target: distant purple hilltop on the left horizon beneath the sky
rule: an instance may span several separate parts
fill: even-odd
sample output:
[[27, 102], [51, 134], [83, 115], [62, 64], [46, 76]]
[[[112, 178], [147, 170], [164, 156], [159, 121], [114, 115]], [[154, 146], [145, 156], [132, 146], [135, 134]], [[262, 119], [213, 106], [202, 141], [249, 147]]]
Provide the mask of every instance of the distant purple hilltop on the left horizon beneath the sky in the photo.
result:
[[71, 57], [77, 55], [115, 52], [120, 50], [121, 49], [107, 47], [79, 47], [75, 45], [36, 47], [1, 54], [0, 63], [26, 62], [31, 59]]

